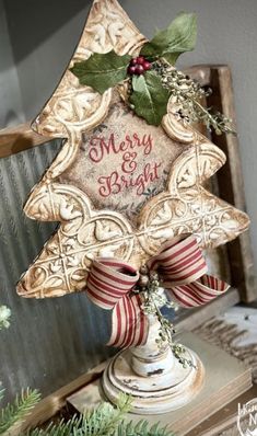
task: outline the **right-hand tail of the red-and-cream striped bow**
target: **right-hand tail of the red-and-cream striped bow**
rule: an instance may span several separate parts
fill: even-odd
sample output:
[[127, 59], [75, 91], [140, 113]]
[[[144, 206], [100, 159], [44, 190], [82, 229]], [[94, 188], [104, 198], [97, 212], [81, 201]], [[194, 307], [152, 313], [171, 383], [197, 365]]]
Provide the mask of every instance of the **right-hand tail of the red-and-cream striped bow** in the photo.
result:
[[199, 280], [167, 289], [168, 295], [183, 308], [207, 305], [230, 288], [225, 282], [205, 274]]

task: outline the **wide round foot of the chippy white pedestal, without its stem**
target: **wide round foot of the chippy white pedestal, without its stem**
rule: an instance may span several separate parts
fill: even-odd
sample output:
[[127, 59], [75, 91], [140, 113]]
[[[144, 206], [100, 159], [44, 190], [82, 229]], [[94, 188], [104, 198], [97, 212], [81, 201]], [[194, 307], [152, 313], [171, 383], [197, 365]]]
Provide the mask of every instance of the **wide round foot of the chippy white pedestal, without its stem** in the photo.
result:
[[144, 415], [170, 412], [187, 404], [202, 388], [205, 368], [188, 348], [185, 357], [191, 359], [195, 368], [183, 368], [170, 353], [167, 349], [165, 358], [171, 363], [170, 368], [161, 368], [156, 362], [156, 368], [147, 377], [132, 370], [135, 357], [131, 351], [119, 353], [105, 369], [102, 380], [105, 395], [115, 403], [120, 392], [130, 394], [133, 400], [131, 412]]

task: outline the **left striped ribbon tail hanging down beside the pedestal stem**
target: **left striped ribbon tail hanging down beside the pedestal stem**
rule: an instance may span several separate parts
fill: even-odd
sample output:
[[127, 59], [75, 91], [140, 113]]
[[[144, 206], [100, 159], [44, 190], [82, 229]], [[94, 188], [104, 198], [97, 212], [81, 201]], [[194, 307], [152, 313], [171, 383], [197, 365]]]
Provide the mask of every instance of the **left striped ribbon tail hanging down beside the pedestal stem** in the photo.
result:
[[149, 321], [139, 295], [124, 296], [113, 311], [112, 335], [107, 345], [128, 348], [147, 342]]

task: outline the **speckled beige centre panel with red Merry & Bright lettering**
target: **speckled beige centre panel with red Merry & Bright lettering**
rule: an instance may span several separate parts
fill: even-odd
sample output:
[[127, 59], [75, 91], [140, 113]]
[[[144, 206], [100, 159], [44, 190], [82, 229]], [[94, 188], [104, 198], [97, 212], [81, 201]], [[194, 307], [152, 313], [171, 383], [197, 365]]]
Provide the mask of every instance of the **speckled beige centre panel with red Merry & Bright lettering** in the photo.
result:
[[165, 190], [172, 163], [187, 148], [119, 100], [103, 124], [83, 135], [60, 181], [85, 192], [95, 208], [117, 210], [133, 221], [145, 202]]

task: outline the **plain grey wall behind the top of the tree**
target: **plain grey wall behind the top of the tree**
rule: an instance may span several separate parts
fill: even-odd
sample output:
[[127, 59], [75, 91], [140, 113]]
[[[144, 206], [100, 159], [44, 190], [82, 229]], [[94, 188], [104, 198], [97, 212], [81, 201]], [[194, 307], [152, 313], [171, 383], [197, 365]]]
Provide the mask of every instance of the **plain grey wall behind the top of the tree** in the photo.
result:
[[[3, 0], [4, 1], [4, 0]], [[11, 105], [16, 117], [34, 117], [50, 96], [82, 31], [89, 0], [5, 0], [9, 36], [1, 25], [0, 0], [0, 122]], [[229, 64], [234, 80], [237, 131], [245, 180], [252, 242], [257, 259], [257, 0], [120, 0], [142, 33], [151, 37], [177, 12], [198, 14], [198, 44], [179, 67], [194, 64]], [[15, 72], [4, 67], [13, 57]], [[3, 64], [1, 59], [3, 58]], [[10, 87], [10, 81], [14, 85]], [[9, 90], [9, 102], [2, 93]], [[14, 92], [15, 91], [15, 92]], [[19, 96], [21, 92], [21, 100]], [[21, 105], [22, 101], [22, 105]]]

